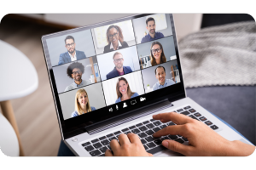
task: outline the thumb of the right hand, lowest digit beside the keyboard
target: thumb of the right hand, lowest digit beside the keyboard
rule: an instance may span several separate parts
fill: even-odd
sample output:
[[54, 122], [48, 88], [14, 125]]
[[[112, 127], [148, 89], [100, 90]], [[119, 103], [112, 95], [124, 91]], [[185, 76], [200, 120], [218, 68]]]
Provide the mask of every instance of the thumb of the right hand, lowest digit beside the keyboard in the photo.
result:
[[169, 150], [183, 154], [184, 156], [189, 156], [189, 151], [192, 149], [191, 146], [180, 144], [174, 140], [164, 140], [162, 145], [168, 148]]

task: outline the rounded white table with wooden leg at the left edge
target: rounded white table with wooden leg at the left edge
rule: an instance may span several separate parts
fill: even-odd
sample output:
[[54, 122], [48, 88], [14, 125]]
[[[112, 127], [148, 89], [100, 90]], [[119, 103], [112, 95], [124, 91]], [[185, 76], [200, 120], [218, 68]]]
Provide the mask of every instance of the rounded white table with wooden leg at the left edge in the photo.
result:
[[[0, 40], [0, 105], [3, 116], [14, 127], [19, 141], [20, 156], [24, 156], [20, 133], [10, 99], [22, 98], [38, 88], [38, 73], [25, 54]], [[29, 108], [27, 108], [29, 111]], [[3, 127], [1, 131], [3, 131]]]

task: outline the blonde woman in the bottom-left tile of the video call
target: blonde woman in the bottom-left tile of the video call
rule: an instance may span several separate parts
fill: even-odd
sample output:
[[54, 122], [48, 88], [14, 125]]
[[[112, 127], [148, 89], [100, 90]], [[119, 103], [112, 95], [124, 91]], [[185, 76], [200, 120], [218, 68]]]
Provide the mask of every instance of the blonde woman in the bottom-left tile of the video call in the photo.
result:
[[81, 88], [76, 93], [75, 111], [71, 114], [71, 117], [79, 116], [90, 111], [96, 111], [96, 108], [90, 106], [88, 94], [84, 88]]

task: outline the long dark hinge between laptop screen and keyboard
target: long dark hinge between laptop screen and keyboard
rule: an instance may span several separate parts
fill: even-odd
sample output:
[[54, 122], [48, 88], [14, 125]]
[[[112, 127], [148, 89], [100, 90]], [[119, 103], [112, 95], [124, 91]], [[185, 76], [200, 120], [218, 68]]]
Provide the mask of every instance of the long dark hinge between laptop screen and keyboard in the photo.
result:
[[156, 105], [151, 105], [149, 107], [147, 106], [144, 109], [140, 109], [140, 110], [137, 110], [137, 111], [131, 111], [130, 113], [128, 112], [124, 116], [115, 117], [111, 120], [108, 120], [107, 122], [102, 122], [102, 123], [96, 124], [95, 126], [86, 127], [86, 131], [90, 135], [95, 134], [95, 133], [100, 133], [104, 130], [107, 130], [108, 128], [119, 126], [120, 124], [123, 124], [125, 122], [133, 121], [137, 118], [147, 116], [147, 115], [152, 114], [156, 111], [161, 111], [161, 110], [164, 110], [164, 109], [172, 107], [172, 106], [173, 105], [170, 101], [165, 100], [165, 101], [160, 102]]

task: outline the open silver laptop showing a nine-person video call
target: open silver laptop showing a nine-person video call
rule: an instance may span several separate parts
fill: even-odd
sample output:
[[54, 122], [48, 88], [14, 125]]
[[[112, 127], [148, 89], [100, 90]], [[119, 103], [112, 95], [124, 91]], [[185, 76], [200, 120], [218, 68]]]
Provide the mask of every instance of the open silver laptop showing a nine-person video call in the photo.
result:
[[186, 95], [172, 14], [133, 14], [42, 37], [61, 139], [76, 156], [104, 156], [121, 133], [137, 133], [154, 156], [183, 156], [154, 139], [175, 111], [206, 123], [225, 139], [251, 144]]

